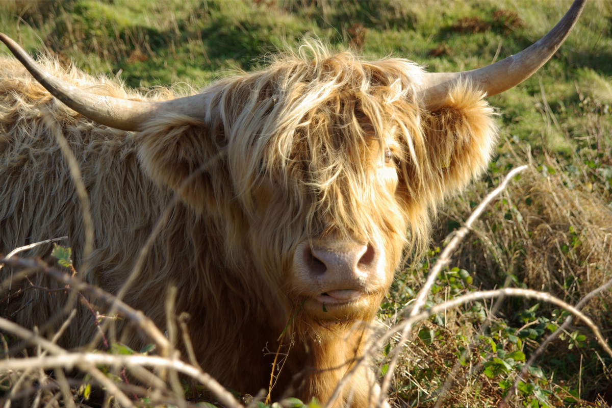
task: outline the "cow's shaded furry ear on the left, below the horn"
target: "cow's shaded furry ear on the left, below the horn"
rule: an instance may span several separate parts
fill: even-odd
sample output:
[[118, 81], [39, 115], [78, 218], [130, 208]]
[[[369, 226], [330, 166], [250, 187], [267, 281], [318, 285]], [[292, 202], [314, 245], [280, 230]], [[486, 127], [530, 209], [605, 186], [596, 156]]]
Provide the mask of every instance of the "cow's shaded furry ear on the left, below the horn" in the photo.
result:
[[198, 212], [210, 211], [231, 191], [222, 150], [220, 124], [209, 125], [177, 114], [165, 114], [136, 136], [141, 166], [160, 187], [169, 187]]

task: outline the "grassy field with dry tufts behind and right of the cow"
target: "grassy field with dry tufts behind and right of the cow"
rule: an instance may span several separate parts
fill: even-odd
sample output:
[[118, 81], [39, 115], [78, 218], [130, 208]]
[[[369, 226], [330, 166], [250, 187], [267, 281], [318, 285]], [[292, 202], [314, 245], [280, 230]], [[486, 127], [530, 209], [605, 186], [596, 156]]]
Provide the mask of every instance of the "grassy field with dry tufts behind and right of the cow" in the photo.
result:
[[[539, 39], [567, 1], [3, 1], [0, 27], [31, 53], [144, 91], [199, 88], [266, 56], [321, 39], [368, 58], [407, 57], [432, 72], [499, 61]], [[380, 317], [414, 298], [444, 238], [510, 168], [531, 167], [488, 207], [440, 276], [428, 305], [477, 289], [548, 291], [575, 304], [612, 278], [612, 2], [592, 0], [569, 39], [529, 80], [489, 98], [501, 127], [487, 174], [442, 209], [428, 256], [392, 287]], [[8, 51], [0, 47], [0, 53]], [[584, 311], [612, 330], [612, 296]], [[397, 407], [612, 404], [612, 358], [581, 323], [553, 341], [517, 389], [523, 363], [567, 317], [516, 298], [472, 302], [419, 326], [400, 358]], [[386, 352], [388, 352], [388, 348]], [[386, 370], [386, 352], [380, 357]], [[450, 374], [452, 373], [452, 378]], [[439, 390], [447, 379], [449, 391]], [[606, 401], [606, 402], [604, 402]]]

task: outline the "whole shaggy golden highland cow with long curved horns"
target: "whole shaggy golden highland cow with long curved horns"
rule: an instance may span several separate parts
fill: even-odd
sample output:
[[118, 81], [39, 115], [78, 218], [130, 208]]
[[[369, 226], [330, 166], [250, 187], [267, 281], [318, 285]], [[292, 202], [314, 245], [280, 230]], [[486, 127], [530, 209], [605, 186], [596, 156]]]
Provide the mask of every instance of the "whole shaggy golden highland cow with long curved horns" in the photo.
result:
[[[176, 287], [200, 365], [252, 394], [267, 388], [296, 313], [275, 398], [327, 401], [367, 344], [403, 254], [426, 247], [436, 206], [486, 168], [496, 125], [484, 97], [539, 69], [582, 7], [527, 50], [478, 70], [426, 73], [315, 44], [177, 99], [143, 97], [51, 59], [39, 65], [0, 35], [27, 67], [0, 60], [0, 253], [69, 236], [81, 279], [117, 293], [171, 206], [125, 302], [165, 328]], [[91, 202], [89, 254], [62, 136]], [[50, 259], [50, 247], [27, 256]], [[41, 326], [66, 300], [28, 291], [0, 313]], [[146, 341], [122, 321], [116, 332], [134, 348]], [[82, 346], [95, 333], [79, 310], [61, 343]], [[338, 406], [349, 394], [356, 407], [378, 401], [369, 368], [345, 389]]]

